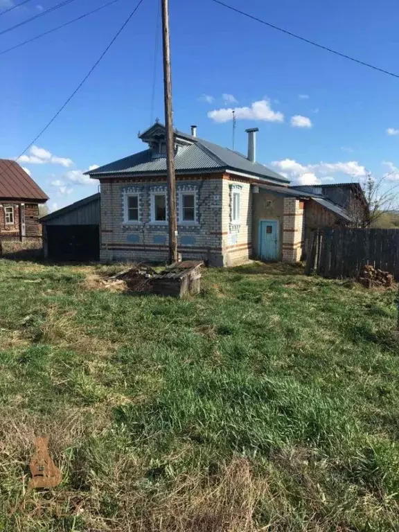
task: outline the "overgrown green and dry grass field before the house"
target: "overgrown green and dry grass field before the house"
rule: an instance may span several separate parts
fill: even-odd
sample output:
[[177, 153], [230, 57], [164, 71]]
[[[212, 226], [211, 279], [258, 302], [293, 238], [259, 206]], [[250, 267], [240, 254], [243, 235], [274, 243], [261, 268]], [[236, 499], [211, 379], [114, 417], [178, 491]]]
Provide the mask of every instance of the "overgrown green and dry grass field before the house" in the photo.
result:
[[[0, 531], [392, 531], [396, 292], [281, 265], [178, 301], [0, 260]], [[63, 474], [26, 494], [33, 437]]]

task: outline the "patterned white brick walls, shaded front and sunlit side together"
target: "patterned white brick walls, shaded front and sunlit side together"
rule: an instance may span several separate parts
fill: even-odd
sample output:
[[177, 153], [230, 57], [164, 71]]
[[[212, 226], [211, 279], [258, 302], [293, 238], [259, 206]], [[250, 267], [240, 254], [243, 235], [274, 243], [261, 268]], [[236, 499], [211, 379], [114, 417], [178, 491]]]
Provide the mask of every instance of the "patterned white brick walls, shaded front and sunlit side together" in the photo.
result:
[[[240, 186], [240, 224], [231, 225], [231, 185]], [[140, 195], [140, 224], [123, 224], [123, 190], [134, 186]], [[150, 223], [150, 193], [165, 187], [166, 177], [128, 179], [112, 177], [101, 182], [100, 259], [168, 260], [168, 226]], [[215, 266], [235, 265], [251, 253], [251, 185], [231, 175], [177, 177], [177, 190], [197, 190], [197, 221], [189, 227], [178, 224], [178, 251], [184, 259], [206, 260]]]

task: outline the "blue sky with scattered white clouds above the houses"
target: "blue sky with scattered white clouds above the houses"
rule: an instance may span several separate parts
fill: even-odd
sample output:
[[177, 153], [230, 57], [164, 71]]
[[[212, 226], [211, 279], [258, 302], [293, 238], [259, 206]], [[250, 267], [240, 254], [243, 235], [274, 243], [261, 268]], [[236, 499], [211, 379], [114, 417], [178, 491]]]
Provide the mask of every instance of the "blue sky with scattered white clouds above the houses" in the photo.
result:
[[[21, 0], [0, 0], [1, 8]], [[0, 16], [0, 32], [60, 0], [33, 0]], [[399, 3], [352, 0], [226, 0], [337, 51], [399, 73]], [[107, 0], [68, 6], [0, 35], [0, 51]], [[59, 109], [121, 26], [136, 0], [113, 6], [0, 55], [0, 157], [14, 158]], [[104, 60], [21, 166], [51, 209], [97, 190], [82, 171], [143, 149], [151, 121], [158, 0], [144, 0]], [[211, 0], [170, 0], [175, 126], [246, 152], [257, 126], [258, 161], [292, 181], [399, 181], [399, 79], [299, 42]], [[161, 42], [153, 118], [163, 120]], [[389, 129], [391, 128], [391, 129]], [[389, 132], [388, 132], [389, 130]], [[390, 134], [389, 134], [390, 133]]]

